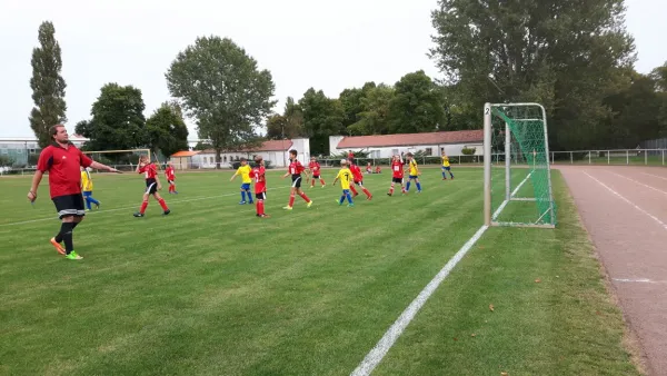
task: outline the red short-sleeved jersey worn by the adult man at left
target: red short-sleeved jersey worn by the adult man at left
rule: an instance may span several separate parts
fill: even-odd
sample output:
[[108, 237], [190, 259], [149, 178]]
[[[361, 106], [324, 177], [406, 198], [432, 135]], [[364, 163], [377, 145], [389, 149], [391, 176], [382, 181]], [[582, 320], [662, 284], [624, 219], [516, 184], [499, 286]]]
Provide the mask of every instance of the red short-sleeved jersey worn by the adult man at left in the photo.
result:
[[88, 158], [76, 146], [70, 144], [66, 149], [53, 142], [39, 155], [37, 169], [42, 172], [49, 171], [49, 191], [51, 198], [53, 198], [80, 194], [80, 167], [89, 167], [90, 165], [92, 165], [92, 159]]

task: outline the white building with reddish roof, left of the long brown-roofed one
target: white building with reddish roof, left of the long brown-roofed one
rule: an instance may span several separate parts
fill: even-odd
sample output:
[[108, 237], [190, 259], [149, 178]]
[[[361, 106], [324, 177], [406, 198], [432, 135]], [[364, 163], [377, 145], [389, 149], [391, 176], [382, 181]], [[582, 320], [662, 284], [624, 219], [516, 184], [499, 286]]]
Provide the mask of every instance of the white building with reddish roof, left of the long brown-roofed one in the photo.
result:
[[[286, 167], [289, 164], [289, 150], [296, 149], [297, 158], [306, 164], [310, 159], [310, 140], [307, 138], [295, 138], [290, 140], [263, 141], [260, 147], [239, 151], [223, 151], [220, 155], [221, 167], [231, 168], [232, 164], [240, 158], [252, 159], [261, 156], [263, 160], [270, 161], [271, 167]], [[216, 168], [216, 150], [179, 151], [170, 157], [176, 168]], [[188, 167], [185, 167], [188, 166]]]

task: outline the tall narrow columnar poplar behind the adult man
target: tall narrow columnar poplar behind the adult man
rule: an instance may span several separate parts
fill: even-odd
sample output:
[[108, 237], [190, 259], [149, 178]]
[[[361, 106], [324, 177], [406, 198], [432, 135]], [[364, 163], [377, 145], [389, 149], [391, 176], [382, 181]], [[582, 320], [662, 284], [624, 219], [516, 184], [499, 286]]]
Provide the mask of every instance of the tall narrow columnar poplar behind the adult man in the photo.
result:
[[60, 44], [56, 40], [56, 28], [50, 21], [44, 21], [39, 27], [39, 44], [32, 49], [32, 100], [34, 107], [30, 111], [30, 127], [38, 139], [39, 146], [44, 148], [51, 142], [49, 127], [67, 121], [64, 112], [66, 83], [60, 70], [62, 58]]

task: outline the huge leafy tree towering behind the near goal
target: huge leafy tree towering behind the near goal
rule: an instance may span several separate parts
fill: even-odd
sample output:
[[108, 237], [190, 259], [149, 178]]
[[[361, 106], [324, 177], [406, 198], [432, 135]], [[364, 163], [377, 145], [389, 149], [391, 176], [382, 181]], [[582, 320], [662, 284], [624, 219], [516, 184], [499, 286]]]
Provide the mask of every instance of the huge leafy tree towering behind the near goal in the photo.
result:
[[585, 148], [609, 117], [603, 99], [634, 61], [623, 0], [439, 0], [430, 56], [479, 118], [485, 101], [537, 101], [550, 144]]

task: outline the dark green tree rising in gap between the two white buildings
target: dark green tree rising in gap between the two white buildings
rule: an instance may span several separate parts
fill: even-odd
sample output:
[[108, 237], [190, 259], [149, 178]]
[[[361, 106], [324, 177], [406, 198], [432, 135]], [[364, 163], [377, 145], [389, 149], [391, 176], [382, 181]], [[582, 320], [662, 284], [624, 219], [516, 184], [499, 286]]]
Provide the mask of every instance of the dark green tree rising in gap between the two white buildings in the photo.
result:
[[325, 96], [322, 90], [310, 88], [299, 100], [299, 108], [303, 111], [303, 127], [310, 137], [310, 152], [328, 155], [329, 136], [346, 133], [342, 105], [338, 99]]

